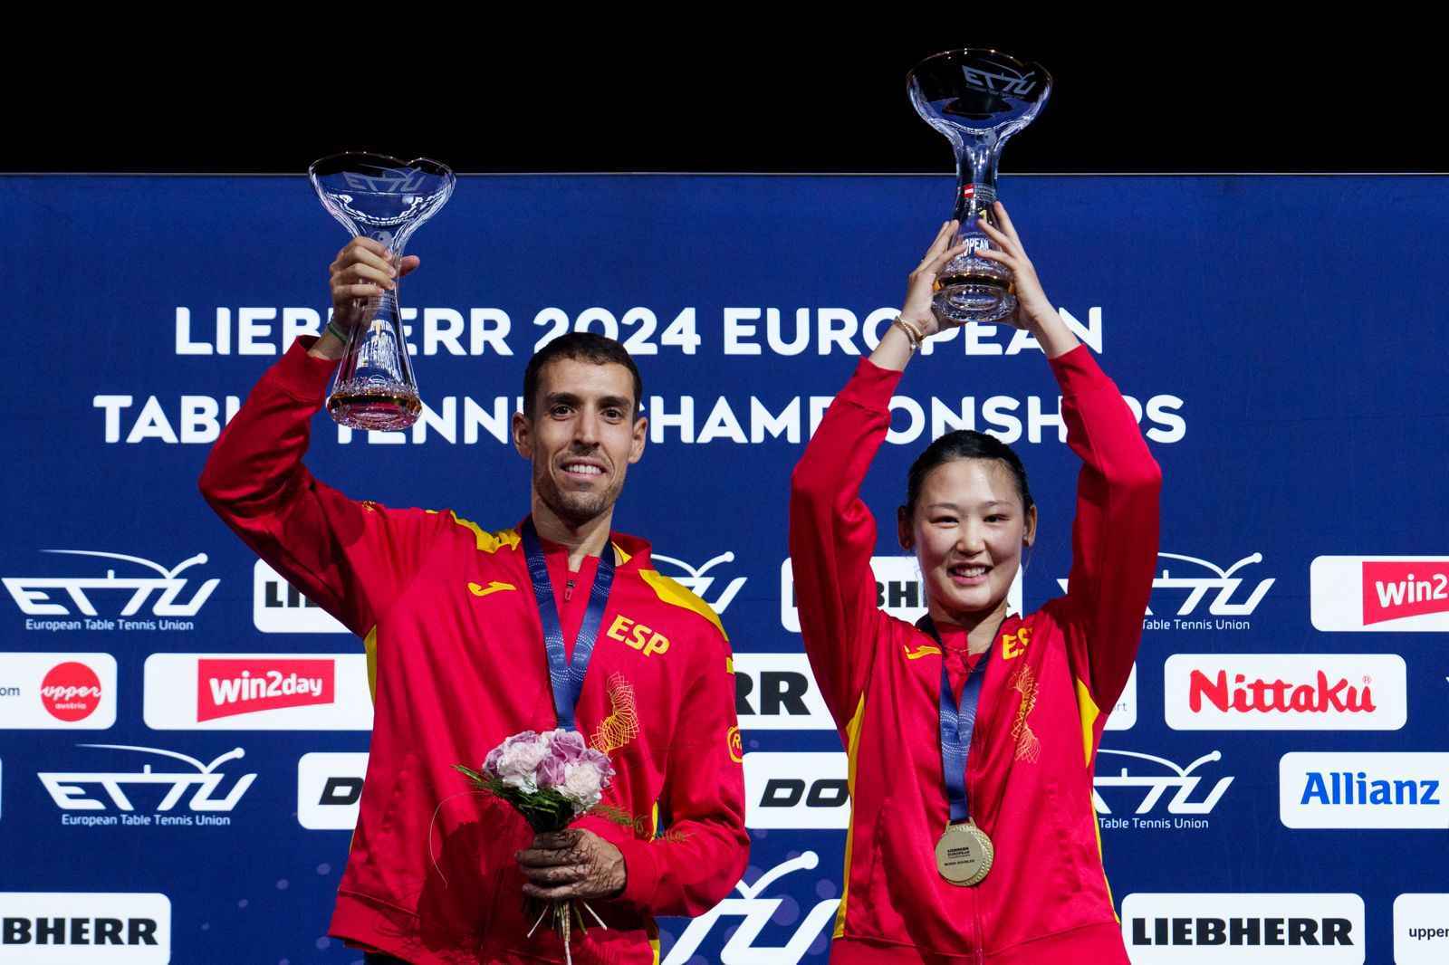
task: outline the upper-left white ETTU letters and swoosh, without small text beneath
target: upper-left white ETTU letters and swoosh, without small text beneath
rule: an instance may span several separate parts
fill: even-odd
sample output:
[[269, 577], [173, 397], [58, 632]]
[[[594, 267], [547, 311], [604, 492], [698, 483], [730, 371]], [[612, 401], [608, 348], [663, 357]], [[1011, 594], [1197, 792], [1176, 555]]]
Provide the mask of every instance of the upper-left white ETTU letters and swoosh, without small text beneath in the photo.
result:
[[167, 569], [161, 564], [142, 559], [141, 556], [128, 556], [125, 553], [103, 553], [91, 549], [43, 549], [41, 552], [119, 559], [122, 562], [136, 564], [138, 567], [151, 569], [156, 575], [117, 577], [114, 569], [107, 569], [104, 577], [6, 577], [4, 587], [10, 591], [10, 597], [23, 613], [30, 616], [70, 616], [71, 610], [67, 609], [64, 603], [52, 598], [52, 593], [57, 590], [64, 590], [71, 606], [90, 617], [97, 616], [97, 610], [90, 596], [87, 596], [87, 591], [112, 593], [117, 590], [128, 591], [130, 594], [126, 597], [126, 604], [122, 607], [119, 616], [135, 616], [141, 607], [151, 600], [152, 593], [156, 593], [155, 603], [151, 606], [151, 611], [154, 614], [162, 617], [196, 616], [201, 609], [201, 604], [204, 604], [212, 596], [212, 591], [216, 590], [216, 584], [220, 582], [220, 580], [216, 578], [207, 580], [194, 594], [191, 594], [190, 600], [178, 603], [177, 597], [181, 596], [187, 584], [180, 574], [191, 567], [204, 564], [206, 553], [197, 553], [190, 559], [183, 559], [171, 569]]

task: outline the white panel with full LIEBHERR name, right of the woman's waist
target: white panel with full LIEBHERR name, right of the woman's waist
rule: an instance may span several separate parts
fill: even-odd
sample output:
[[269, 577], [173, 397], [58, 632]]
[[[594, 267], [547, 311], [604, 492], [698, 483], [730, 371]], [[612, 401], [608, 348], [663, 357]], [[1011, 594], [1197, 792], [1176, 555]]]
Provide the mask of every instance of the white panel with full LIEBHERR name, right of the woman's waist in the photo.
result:
[[1356, 894], [1129, 894], [1132, 965], [1364, 965]]

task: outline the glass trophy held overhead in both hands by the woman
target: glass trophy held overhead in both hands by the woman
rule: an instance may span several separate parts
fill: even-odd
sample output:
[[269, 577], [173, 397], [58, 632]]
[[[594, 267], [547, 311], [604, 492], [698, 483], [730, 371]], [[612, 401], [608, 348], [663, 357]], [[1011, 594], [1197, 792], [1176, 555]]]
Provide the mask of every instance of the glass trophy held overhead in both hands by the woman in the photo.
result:
[[997, 161], [1007, 139], [1032, 123], [1052, 93], [1040, 64], [1023, 64], [1000, 51], [946, 51], [927, 57], [907, 77], [910, 101], [926, 123], [946, 135], [956, 152], [956, 209], [952, 246], [962, 254], [940, 271], [933, 300], [949, 322], [998, 322], [1016, 313], [1011, 272], [975, 252], [993, 248], [977, 227], [995, 226]]

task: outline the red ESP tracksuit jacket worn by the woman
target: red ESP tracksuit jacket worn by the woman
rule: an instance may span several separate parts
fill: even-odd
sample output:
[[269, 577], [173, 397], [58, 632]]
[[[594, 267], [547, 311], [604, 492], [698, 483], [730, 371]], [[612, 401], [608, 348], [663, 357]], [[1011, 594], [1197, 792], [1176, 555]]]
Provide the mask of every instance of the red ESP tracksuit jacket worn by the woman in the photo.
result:
[[[1103, 872], [1093, 758], [1142, 635], [1161, 472], [1084, 346], [1052, 371], [1068, 443], [1085, 464], [1069, 591], [1009, 617], [993, 643], [966, 788], [995, 864], [975, 887], [945, 881], [935, 861], [949, 816], [939, 743], [946, 656], [877, 609], [875, 520], [859, 498], [900, 372], [862, 359], [796, 468], [800, 626], [846, 745], [853, 809], [832, 962], [1127, 962]], [[964, 630], [943, 633], [948, 649], [964, 652]], [[948, 669], [959, 691], [959, 653]]]

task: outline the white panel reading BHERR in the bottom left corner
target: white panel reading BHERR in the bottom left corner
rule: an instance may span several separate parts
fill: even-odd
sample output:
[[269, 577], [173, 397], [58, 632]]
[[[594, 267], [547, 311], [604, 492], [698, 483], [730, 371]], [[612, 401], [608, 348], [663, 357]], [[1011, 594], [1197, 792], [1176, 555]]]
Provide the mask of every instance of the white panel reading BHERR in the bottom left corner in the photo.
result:
[[167, 965], [171, 900], [155, 893], [0, 893], [0, 965]]

